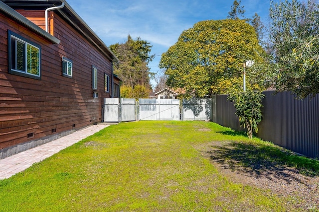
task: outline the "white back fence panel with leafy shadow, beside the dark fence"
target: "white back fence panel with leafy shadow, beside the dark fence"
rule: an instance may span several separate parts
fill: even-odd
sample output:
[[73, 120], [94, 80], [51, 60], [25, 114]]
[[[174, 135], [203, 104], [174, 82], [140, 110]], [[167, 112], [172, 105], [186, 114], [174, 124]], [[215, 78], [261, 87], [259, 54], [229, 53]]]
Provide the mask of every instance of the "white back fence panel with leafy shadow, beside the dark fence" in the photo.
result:
[[212, 119], [211, 99], [184, 99], [183, 120], [208, 121]]

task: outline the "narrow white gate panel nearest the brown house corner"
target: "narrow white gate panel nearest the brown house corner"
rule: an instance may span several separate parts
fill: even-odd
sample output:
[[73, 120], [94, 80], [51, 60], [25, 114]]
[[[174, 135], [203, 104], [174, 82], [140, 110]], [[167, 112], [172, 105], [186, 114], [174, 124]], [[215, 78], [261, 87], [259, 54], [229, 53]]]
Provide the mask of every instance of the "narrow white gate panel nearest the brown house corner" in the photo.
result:
[[119, 99], [105, 98], [103, 122], [119, 122]]

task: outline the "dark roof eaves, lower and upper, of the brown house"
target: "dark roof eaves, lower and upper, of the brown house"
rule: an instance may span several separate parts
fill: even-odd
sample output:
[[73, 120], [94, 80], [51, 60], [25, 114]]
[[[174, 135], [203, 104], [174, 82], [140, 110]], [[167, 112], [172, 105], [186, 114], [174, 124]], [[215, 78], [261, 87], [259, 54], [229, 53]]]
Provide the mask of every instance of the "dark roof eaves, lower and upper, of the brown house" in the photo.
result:
[[111, 61], [118, 62], [119, 59], [114, 55], [114, 53], [105, 45], [105, 43], [95, 34], [95, 32], [85, 23], [85, 21], [73, 10], [73, 8], [65, 0], [1, 0], [0, 9], [24, 24], [25, 26], [48, 38], [53, 43], [58, 44], [60, 41], [57, 38], [50, 35], [40, 27], [36, 26], [34, 23], [26, 19], [24, 16], [20, 15], [18, 12], [14, 11], [14, 9], [12, 8], [38, 7], [46, 9], [52, 6], [59, 6], [63, 1], [65, 4], [64, 7], [54, 11], [57, 11], [60, 15], [62, 15], [64, 19], [66, 19], [71, 25], [73, 25], [73, 27], [80, 31], [84, 35], [84, 37], [89, 40], [89, 42], [91, 42], [97, 49], [104, 53]]

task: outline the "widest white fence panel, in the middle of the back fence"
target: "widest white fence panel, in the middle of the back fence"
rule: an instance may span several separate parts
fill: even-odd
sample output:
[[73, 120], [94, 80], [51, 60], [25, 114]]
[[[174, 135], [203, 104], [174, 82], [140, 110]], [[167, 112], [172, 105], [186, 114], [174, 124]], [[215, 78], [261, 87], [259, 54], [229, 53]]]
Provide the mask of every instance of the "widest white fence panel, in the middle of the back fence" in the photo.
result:
[[179, 120], [178, 99], [139, 99], [139, 120]]

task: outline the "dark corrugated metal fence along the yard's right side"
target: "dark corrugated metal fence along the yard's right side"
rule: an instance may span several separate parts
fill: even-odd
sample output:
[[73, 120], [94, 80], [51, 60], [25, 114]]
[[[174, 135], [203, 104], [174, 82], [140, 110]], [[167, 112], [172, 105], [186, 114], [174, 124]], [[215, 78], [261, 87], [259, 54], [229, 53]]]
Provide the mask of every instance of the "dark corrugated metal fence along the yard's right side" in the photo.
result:
[[[290, 92], [276, 95], [263, 92], [263, 120], [257, 136], [265, 141], [291, 149], [309, 157], [319, 157], [319, 95], [304, 100]], [[216, 117], [213, 121], [234, 130], [243, 130], [235, 115], [234, 104], [227, 95], [216, 96]]]

